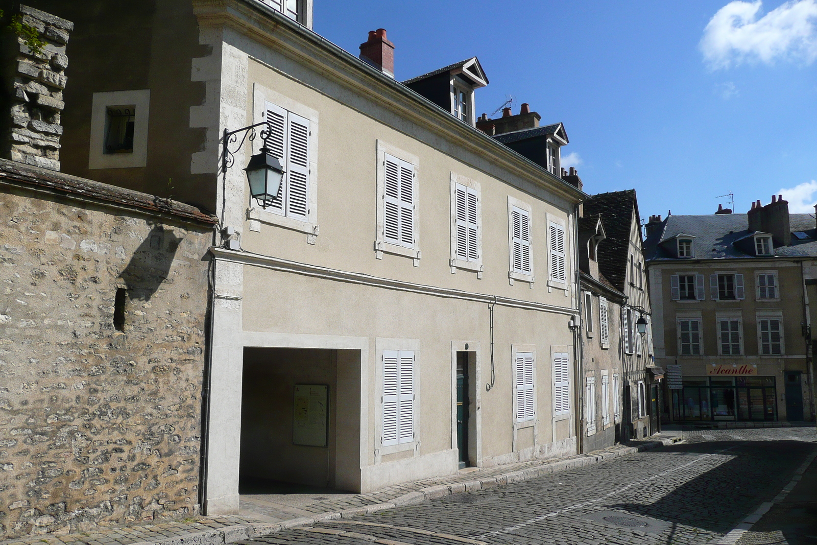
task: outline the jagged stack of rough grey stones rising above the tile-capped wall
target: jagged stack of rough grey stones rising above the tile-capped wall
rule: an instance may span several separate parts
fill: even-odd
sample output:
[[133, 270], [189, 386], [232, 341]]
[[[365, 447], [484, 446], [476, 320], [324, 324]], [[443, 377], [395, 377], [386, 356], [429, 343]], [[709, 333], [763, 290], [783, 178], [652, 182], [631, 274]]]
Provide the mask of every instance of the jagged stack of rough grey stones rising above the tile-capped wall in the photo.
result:
[[[3, 120], [4, 159], [60, 170], [60, 113], [65, 108], [65, 44], [74, 23], [33, 7], [20, 6], [24, 25], [36, 29], [45, 45], [32, 51], [24, 38], [3, 36], [3, 89], [11, 115]], [[6, 109], [5, 107], [3, 109]], [[11, 131], [7, 130], [11, 123]]]

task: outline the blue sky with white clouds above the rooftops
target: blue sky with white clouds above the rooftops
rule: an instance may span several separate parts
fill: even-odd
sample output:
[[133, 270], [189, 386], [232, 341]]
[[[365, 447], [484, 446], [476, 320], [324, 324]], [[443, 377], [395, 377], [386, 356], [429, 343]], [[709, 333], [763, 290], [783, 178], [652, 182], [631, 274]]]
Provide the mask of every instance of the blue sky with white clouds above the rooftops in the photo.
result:
[[355, 55], [385, 28], [399, 80], [478, 56], [477, 114], [514, 96], [565, 123], [584, 189], [634, 187], [642, 217], [817, 201], [815, 26], [817, 0], [315, 0]]

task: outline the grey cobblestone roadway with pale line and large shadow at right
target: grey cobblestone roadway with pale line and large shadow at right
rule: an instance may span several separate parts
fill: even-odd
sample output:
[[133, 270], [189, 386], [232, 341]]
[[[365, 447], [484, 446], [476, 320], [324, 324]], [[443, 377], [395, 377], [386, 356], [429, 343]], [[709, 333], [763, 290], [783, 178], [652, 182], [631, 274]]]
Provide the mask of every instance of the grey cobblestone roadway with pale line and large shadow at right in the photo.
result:
[[673, 433], [685, 442], [493, 489], [284, 529], [253, 545], [719, 543], [775, 498], [817, 449], [814, 427]]

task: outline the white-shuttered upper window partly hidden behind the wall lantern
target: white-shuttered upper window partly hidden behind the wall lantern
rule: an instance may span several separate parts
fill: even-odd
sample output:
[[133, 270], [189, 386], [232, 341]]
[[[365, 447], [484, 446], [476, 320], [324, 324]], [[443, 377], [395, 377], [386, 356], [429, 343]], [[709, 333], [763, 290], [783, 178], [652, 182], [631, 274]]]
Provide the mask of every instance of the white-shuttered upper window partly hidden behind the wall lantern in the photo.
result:
[[[248, 197], [249, 229], [261, 224], [306, 233], [308, 243], [318, 235], [318, 112], [288, 96], [255, 83], [252, 87], [253, 120], [266, 122], [266, 138], [252, 141], [252, 153], [266, 146], [286, 171], [272, 206], [261, 208]], [[241, 176], [244, 191], [248, 190]]]

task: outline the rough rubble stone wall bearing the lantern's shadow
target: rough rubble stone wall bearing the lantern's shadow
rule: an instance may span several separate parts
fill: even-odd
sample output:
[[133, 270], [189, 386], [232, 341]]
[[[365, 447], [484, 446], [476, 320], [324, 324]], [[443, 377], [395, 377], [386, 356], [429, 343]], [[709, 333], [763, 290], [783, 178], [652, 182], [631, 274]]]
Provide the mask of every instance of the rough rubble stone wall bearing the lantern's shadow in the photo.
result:
[[212, 233], [82, 206], [0, 190], [0, 538], [198, 508]]

